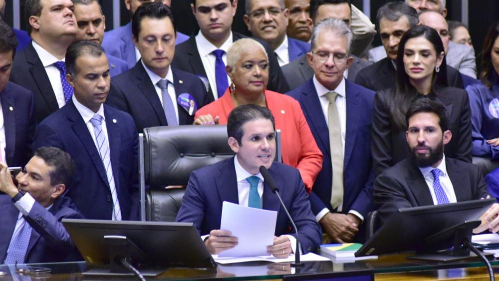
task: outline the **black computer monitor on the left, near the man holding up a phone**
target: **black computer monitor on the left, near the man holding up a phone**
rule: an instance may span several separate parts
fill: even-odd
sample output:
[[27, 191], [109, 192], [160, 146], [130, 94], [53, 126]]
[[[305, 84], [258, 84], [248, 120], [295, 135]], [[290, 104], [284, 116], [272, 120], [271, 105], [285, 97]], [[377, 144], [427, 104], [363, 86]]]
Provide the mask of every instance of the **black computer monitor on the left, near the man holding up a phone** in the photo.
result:
[[91, 267], [112, 267], [120, 255], [128, 255], [138, 269], [216, 267], [192, 223], [63, 219], [62, 224]]

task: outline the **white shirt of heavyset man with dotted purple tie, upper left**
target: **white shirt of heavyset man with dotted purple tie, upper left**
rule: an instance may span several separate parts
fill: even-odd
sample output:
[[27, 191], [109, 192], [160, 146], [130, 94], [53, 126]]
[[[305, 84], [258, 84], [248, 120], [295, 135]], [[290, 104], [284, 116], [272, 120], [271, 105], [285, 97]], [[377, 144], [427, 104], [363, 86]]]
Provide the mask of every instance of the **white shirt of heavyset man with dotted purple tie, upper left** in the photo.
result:
[[57, 100], [57, 105], [61, 108], [66, 104], [66, 99], [64, 98], [64, 90], [62, 89], [60, 71], [55, 67], [54, 63], [57, 61], [65, 61], [66, 59], [56, 58], [34, 40], [32, 40], [31, 43], [41, 60], [41, 64], [43, 64], [43, 67], [45, 68], [45, 72], [47, 72], [48, 80], [50, 80], [50, 85], [52, 85], [52, 90], [54, 91], [55, 99]]

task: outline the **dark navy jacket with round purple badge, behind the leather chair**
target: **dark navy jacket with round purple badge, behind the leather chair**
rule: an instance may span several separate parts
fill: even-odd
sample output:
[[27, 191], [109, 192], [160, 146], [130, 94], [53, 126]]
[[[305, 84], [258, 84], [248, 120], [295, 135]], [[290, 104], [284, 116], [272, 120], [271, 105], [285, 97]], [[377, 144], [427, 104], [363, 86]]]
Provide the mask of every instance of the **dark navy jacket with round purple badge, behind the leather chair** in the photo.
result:
[[[177, 98], [182, 93], [189, 93], [196, 100], [198, 109], [208, 104], [208, 93], [201, 79], [191, 73], [171, 69]], [[111, 79], [111, 89], [106, 103], [132, 115], [139, 132], [148, 127], [168, 125], [156, 89], [141, 61], [130, 70]], [[191, 125], [196, 112], [189, 115], [187, 110], [177, 102], [176, 104], [179, 110], [179, 124]]]

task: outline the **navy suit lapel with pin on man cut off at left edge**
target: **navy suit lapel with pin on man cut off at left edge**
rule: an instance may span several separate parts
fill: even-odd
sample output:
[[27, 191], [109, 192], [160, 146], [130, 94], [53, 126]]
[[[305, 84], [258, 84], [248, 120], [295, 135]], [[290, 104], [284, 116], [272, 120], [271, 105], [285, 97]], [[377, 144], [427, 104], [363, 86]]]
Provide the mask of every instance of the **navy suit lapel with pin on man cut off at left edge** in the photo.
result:
[[[15, 151], [15, 107], [14, 100], [7, 88], [0, 94], [1, 108], [3, 111], [3, 128], [5, 130], [5, 160], [10, 163]], [[12, 110], [10, 110], [12, 108]]]

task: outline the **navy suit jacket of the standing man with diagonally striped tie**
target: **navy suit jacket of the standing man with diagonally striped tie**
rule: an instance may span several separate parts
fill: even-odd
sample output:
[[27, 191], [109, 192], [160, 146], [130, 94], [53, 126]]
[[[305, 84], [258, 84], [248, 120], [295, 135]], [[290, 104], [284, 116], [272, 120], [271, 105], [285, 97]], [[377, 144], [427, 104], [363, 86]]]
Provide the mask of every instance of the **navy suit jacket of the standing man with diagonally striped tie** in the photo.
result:
[[[123, 220], [137, 220], [137, 130], [128, 113], [104, 105], [104, 115], [121, 217]], [[41, 146], [58, 147], [75, 161], [75, 174], [66, 195], [81, 213], [87, 219], [111, 219], [113, 201], [106, 170], [87, 125], [72, 100], [38, 125], [33, 149]]]

